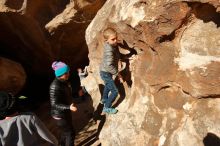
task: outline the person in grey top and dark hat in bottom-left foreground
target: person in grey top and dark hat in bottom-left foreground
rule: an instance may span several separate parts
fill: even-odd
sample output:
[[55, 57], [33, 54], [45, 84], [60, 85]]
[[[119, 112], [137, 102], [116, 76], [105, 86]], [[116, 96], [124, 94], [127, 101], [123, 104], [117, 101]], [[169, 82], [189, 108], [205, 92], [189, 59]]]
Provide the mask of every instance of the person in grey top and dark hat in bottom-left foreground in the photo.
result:
[[58, 146], [57, 139], [33, 113], [20, 113], [17, 98], [0, 91], [0, 146]]

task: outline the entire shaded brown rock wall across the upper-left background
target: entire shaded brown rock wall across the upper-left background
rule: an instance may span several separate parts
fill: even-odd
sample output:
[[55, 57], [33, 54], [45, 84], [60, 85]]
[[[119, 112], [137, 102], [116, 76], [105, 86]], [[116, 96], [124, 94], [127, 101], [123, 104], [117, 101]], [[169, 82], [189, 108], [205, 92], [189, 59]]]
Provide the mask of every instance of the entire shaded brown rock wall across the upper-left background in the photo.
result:
[[54, 60], [66, 62], [72, 70], [88, 64], [85, 29], [104, 2], [1, 0], [0, 56], [24, 67], [31, 82], [27, 86], [45, 85], [45, 78], [53, 77]]

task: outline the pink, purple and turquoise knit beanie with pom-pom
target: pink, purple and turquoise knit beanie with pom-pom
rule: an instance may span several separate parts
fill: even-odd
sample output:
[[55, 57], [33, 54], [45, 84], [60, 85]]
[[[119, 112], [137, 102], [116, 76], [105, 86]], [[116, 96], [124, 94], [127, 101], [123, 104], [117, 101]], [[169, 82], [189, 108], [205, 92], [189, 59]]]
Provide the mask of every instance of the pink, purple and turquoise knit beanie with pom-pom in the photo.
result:
[[52, 63], [52, 68], [55, 72], [56, 77], [62, 76], [63, 74], [69, 72], [69, 70], [70, 70], [69, 66], [61, 61], [54, 61]]

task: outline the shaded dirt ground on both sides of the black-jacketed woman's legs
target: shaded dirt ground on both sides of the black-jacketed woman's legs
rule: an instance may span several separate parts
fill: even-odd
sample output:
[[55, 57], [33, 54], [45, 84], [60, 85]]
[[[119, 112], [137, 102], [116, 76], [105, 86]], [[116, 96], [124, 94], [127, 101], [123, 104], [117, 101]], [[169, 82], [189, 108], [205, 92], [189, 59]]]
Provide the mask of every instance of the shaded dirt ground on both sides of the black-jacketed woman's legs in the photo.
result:
[[[76, 131], [76, 146], [101, 146], [98, 139], [99, 132], [104, 125], [105, 115], [102, 115], [102, 105], [94, 111], [92, 99], [74, 99], [77, 103], [78, 111], [72, 113], [73, 126]], [[50, 103], [44, 102], [34, 112], [45, 123], [47, 128], [58, 138], [59, 130], [50, 116]]]

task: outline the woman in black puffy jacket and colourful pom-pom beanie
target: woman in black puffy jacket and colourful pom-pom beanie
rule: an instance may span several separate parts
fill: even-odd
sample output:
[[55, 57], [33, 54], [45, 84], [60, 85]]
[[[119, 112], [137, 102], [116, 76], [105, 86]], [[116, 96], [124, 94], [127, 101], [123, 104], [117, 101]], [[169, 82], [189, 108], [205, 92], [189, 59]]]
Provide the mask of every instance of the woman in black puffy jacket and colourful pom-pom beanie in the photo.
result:
[[56, 78], [50, 85], [51, 116], [61, 130], [60, 145], [73, 146], [75, 131], [71, 112], [77, 111], [77, 108], [72, 102], [72, 90], [68, 82], [69, 66], [63, 62], [55, 61], [52, 68]]

